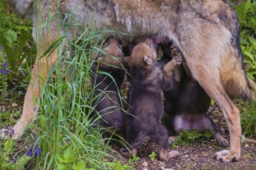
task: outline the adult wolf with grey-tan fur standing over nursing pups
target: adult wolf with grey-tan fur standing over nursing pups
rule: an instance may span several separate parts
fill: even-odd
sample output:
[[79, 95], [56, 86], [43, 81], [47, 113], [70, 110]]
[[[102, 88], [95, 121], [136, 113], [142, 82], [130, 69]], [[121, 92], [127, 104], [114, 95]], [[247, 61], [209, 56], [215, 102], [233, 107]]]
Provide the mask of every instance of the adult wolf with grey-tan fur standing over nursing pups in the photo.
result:
[[[230, 97], [254, 98], [255, 84], [243, 70], [237, 15], [227, 0], [12, 0], [22, 14], [33, 19], [38, 54], [24, 101], [22, 116], [14, 126], [18, 138], [35, 117], [39, 84], [51, 64], [58, 59], [57, 49], [50, 58], [43, 56], [52, 42], [64, 36], [58, 19], [72, 13], [81, 26], [111, 29], [137, 36], [161, 36], [175, 42], [185, 57], [192, 76], [220, 106], [230, 131], [230, 150], [216, 153], [223, 162], [240, 158], [240, 113]], [[39, 13], [40, 12], [40, 13]], [[40, 23], [47, 23], [41, 24]], [[42, 26], [36, 32], [36, 26]], [[76, 30], [76, 32], [74, 32]], [[69, 33], [81, 34], [82, 29]], [[69, 34], [69, 35], [72, 35]], [[109, 32], [123, 40], [133, 37]], [[38, 36], [36, 38], [36, 36]], [[65, 43], [63, 43], [65, 44]], [[43, 56], [43, 57], [41, 57]], [[37, 78], [40, 77], [40, 80]], [[36, 81], [37, 80], [37, 81]]]

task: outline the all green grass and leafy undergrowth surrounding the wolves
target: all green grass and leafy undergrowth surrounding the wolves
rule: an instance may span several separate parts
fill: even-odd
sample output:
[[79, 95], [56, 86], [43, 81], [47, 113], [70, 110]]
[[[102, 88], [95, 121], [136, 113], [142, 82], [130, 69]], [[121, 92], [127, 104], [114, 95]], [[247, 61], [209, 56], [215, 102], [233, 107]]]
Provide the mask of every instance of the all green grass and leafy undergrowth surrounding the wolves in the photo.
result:
[[[5, 2], [0, 2], [1, 105], [23, 100], [36, 56], [31, 21], [17, 15]], [[256, 2], [247, 0], [235, 8], [240, 19], [245, 69], [251, 80], [255, 80]], [[99, 48], [95, 36], [103, 33], [86, 29], [74, 42], [68, 42], [69, 48], [62, 53], [60, 49], [61, 57], [56, 66], [51, 68], [45, 87], [41, 89], [40, 102], [37, 101], [37, 119], [29, 125], [21, 144], [0, 138], [0, 169], [131, 169], [130, 165], [122, 165], [108, 154], [110, 138], [102, 138], [100, 128], [94, 126], [100, 117], [93, 114], [92, 100], [95, 99], [92, 95], [94, 87], [90, 83], [91, 56]], [[63, 38], [60, 37], [58, 41], [61, 42]], [[244, 134], [255, 138], [256, 104], [240, 105]], [[0, 129], [11, 127], [20, 114], [19, 109], [1, 110], [1, 107], [0, 112]], [[12, 129], [5, 133], [12, 135]], [[175, 145], [185, 145], [212, 136], [195, 131], [184, 132], [182, 138], [185, 140]], [[152, 152], [150, 158], [154, 160], [155, 156]], [[130, 164], [136, 161], [137, 157], [133, 157]]]

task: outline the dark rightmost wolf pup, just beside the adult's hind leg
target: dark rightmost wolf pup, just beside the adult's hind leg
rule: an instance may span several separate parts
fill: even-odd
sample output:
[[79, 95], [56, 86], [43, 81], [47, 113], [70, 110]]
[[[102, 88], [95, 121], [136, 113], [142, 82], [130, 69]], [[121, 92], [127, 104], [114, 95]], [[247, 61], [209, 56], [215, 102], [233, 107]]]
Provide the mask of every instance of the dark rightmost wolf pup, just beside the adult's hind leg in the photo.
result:
[[[171, 48], [169, 46], [168, 49], [171, 49], [171, 56], [164, 53], [160, 61], [161, 65], [171, 57], [182, 56], [175, 44], [171, 44]], [[173, 86], [164, 91], [164, 111], [170, 116], [171, 130], [177, 135], [182, 131], [213, 131], [216, 141], [221, 146], [227, 147], [227, 139], [223, 138], [216, 124], [206, 115], [210, 106], [210, 97], [199, 83], [192, 79], [191, 73], [185, 71], [187, 70], [185, 61], [182, 63], [184, 66], [175, 68]], [[176, 136], [172, 136], [169, 141], [175, 139]]]

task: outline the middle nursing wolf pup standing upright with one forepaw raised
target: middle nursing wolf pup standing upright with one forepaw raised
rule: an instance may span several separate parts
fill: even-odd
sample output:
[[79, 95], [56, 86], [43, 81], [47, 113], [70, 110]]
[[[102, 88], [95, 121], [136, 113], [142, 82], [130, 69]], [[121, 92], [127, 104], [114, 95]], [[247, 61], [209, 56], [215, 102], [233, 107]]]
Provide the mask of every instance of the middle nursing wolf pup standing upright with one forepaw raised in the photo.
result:
[[[168, 131], [161, 124], [161, 116], [164, 112], [162, 90], [171, 85], [172, 70], [181, 62], [182, 57], [177, 57], [161, 70], [157, 63], [157, 44], [150, 38], [135, 46], [127, 59], [126, 66], [130, 74], [128, 112], [133, 116], [127, 121], [126, 140], [133, 154], [148, 138], [160, 145], [159, 157], [162, 161], [178, 155], [177, 151], [168, 151]], [[128, 150], [123, 149], [122, 152], [126, 155]]]

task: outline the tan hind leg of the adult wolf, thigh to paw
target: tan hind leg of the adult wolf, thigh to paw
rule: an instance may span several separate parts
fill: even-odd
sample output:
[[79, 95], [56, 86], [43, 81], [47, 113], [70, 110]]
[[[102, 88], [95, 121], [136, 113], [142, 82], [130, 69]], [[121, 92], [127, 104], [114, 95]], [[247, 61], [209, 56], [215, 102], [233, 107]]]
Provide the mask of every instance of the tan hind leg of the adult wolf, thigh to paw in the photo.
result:
[[217, 152], [216, 158], [222, 162], [234, 162], [240, 158], [240, 112], [224, 90], [218, 68], [214, 65], [202, 65], [207, 62], [201, 61], [200, 64], [193, 59], [193, 57], [186, 59], [193, 77], [219, 105], [230, 131], [230, 150]]

